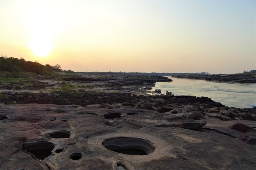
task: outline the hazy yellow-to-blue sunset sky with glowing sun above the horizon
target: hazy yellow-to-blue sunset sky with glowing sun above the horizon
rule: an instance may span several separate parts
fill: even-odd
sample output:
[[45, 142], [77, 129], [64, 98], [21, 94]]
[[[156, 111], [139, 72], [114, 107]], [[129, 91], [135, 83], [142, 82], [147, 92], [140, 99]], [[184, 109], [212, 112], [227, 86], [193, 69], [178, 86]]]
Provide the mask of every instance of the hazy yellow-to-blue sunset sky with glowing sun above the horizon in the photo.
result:
[[0, 0], [0, 55], [73, 71], [256, 69], [256, 0]]

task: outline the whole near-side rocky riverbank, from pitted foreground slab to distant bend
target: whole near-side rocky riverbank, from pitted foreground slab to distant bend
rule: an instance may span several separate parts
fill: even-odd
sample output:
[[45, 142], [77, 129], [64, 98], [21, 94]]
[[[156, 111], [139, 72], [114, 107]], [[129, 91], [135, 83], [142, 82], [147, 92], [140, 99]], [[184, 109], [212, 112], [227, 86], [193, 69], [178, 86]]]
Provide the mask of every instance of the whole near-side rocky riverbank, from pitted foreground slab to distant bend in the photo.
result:
[[[146, 95], [159, 79], [170, 81], [69, 78], [50, 80], [49, 93], [2, 92], [0, 169], [254, 169], [256, 109]], [[58, 89], [67, 82], [91, 88]]]

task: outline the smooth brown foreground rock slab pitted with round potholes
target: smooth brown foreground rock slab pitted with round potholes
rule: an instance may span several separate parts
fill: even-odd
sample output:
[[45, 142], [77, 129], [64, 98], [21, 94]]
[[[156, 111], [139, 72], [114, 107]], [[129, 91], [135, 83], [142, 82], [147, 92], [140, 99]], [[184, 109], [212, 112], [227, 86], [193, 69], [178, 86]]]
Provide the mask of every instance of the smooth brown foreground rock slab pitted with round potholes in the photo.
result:
[[241, 120], [207, 116], [200, 118], [204, 121], [193, 120], [121, 103], [0, 104], [0, 110], [0, 136], [4, 136], [0, 169], [250, 170], [256, 166], [255, 121], [244, 120], [241, 125], [234, 123]]

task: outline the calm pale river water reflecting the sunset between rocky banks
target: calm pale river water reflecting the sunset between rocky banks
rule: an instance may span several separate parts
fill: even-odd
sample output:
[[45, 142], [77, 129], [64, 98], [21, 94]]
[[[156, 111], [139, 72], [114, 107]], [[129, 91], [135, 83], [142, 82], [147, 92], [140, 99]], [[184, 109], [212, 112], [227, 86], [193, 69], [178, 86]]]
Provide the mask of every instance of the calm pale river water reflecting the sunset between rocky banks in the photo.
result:
[[208, 97], [225, 106], [252, 108], [256, 105], [255, 83], [221, 83], [204, 80], [178, 79], [169, 77], [172, 82], [157, 82], [152, 88], [170, 91], [175, 95]]

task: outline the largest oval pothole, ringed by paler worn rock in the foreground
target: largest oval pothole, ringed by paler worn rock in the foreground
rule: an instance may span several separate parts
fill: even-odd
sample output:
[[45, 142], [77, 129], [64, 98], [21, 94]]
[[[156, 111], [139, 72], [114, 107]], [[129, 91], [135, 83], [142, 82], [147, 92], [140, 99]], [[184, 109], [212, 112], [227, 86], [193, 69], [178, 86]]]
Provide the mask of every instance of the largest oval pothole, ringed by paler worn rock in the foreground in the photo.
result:
[[109, 138], [102, 145], [110, 151], [126, 155], [148, 155], [155, 150], [149, 140], [132, 137]]

